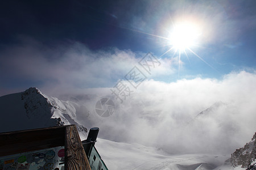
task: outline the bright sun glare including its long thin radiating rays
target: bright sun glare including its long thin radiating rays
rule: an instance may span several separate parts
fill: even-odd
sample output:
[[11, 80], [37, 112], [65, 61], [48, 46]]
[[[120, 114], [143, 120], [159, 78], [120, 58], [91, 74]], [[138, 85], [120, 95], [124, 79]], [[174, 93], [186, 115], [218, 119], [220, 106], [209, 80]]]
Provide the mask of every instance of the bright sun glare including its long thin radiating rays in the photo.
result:
[[[177, 18], [177, 19], [179, 19], [179, 18]], [[174, 56], [176, 54], [176, 52], [178, 52], [178, 56], [177, 56], [177, 57], [179, 57], [178, 77], [180, 75], [180, 65], [183, 63], [183, 62], [181, 62], [182, 53], [185, 54], [185, 56], [187, 57], [187, 59], [189, 61], [187, 52], [194, 54], [197, 58], [201, 59], [201, 61], [206, 63], [213, 70], [216, 70], [216, 69], [214, 69], [213, 66], [211, 66], [209, 63], [207, 63], [202, 57], [200, 57], [194, 51], [195, 46], [200, 47], [202, 41], [205, 42], [204, 39], [205, 39], [205, 37], [207, 37], [205, 35], [208, 35], [208, 33], [209, 33], [207, 31], [205, 32], [205, 30], [207, 28], [205, 25], [205, 22], [203, 22], [203, 20], [198, 20], [198, 19], [192, 18], [192, 17], [188, 17], [187, 20], [177, 20], [177, 21], [179, 21], [179, 22], [174, 22], [171, 29], [166, 29], [167, 27], [164, 27], [164, 31], [166, 31], [166, 30], [168, 31], [167, 36], [154, 35], [152, 33], [147, 33], [147, 32], [139, 31], [136, 29], [130, 29], [130, 30], [140, 32], [140, 33], [143, 33], [146, 35], [158, 37], [158, 38], [164, 40], [163, 44], [164, 44], [164, 46], [168, 47], [168, 50], [166, 50], [166, 52], [164, 52], [160, 56], [160, 58], [162, 56], [164, 56], [165, 54], [167, 54], [168, 52], [171, 52], [173, 50], [174, 50], [174, 54], [172, 56]], [[170, 24], [170, 23], [167, 23], [167, 24]], [[204, 36], [202, 36], [202, 35], [204, 35]], [[218, 72], [218, 70], [216, 70], [216, 71]]]

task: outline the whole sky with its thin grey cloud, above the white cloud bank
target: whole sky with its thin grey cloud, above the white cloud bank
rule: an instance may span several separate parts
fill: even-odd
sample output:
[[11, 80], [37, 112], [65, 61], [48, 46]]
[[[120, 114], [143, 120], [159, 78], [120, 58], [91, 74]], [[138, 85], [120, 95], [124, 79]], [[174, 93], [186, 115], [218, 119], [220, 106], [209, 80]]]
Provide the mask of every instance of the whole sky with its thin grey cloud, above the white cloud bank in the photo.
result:
[[170, 49], [164, 38], [180, 20], [200, 23], [191, 50], [208, 64], [186, 50], [179, 66], [171, 50], [161, 58], [162, 72], [148, 78], [170, 83], [255, 70], [255, 1], [0, 3], [0, 95], [31, 86], [67, 89], [70, 81], [113, 87], [146, 53], [159, 58]]

